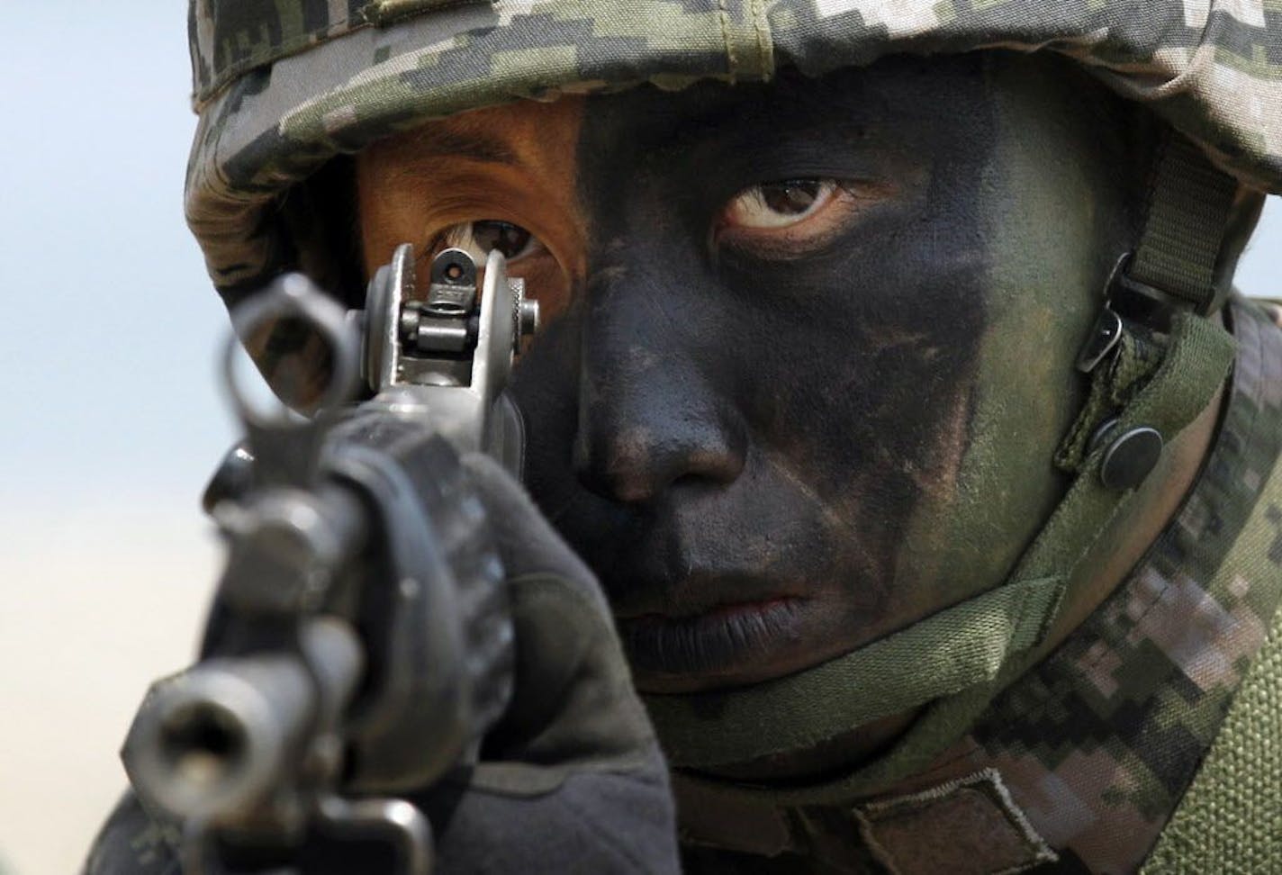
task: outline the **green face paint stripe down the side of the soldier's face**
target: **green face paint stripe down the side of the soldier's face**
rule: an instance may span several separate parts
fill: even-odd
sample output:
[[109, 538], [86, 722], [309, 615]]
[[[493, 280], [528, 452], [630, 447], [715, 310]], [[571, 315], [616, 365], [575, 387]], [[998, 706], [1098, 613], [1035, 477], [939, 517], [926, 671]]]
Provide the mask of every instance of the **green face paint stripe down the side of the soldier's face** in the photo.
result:
[[1068, 487], [1051, 459], [1085, 397], [1073, 364], [1133, 245], [1137, 192], [1123, 168], [1147, 160], [1127, 152], [1120, 101], [1068, 64], [992, 60], [996, 128], [976, 208], [987, 324], [969, 443], [955, 488], [914, 518], [896, 577], [896, 591], [931, 580], [937, 605], [1004, 580]]

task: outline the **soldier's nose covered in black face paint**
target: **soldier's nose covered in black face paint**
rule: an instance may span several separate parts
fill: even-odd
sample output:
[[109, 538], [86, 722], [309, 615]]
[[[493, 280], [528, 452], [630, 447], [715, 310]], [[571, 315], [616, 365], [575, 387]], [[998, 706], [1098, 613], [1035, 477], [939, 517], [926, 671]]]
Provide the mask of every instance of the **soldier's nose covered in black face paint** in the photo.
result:
[[653, 273], [615, 269], [588, 287], [573, 466], [586, 488], [620, 502], [744, 471], [746, 428], [715, 382], [727, 379], [717, 345], [699, 331], [709, 314], [660, 286]]

